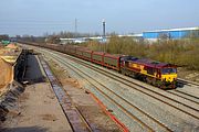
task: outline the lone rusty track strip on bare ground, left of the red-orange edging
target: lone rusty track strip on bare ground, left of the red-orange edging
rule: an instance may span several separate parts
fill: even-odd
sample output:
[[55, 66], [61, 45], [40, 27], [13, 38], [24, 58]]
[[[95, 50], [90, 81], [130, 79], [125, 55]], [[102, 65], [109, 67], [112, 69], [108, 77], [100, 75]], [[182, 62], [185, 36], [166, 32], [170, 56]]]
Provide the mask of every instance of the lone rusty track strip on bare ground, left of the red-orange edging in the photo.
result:
[[51, 87], [60, 102], [60, 106], [70, 122], [70, 125], [74, 132], [93, 132], [96, 131], [95, 128], [92, 128], [90, 122], [84, 118], [78, 108], [73, 105], [69, 95], [61, 88], [60, 82], [53, 76], [49, 65], [40, 57], [42, 67], [49, 78]]

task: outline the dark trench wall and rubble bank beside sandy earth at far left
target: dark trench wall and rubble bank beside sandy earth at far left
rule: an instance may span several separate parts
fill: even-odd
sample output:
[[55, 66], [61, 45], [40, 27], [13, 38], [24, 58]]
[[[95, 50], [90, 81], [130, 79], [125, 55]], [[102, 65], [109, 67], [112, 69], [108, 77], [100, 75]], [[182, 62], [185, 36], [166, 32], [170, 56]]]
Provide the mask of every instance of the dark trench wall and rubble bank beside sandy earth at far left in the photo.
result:
[[[6, 92], [0, 95], [0, 125], [7, 119], [7, 114], [15, 109], [15, 102], [19, 96], [24, 91], [22, 84], [23, 76], [27, 69], [28, 55], [32, 52], [22, 50], [15, 65], [13, 65], [13, 79], [6, 87]], [[20, 113], [18, 113], [20, 114]]]

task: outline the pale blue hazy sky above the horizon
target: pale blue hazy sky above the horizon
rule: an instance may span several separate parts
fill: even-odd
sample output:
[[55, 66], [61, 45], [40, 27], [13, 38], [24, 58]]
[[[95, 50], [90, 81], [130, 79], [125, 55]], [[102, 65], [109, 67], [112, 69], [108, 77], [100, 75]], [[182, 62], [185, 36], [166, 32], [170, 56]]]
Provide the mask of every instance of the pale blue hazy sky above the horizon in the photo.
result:
[[199, 26], [199, 0], [1, 0], [0, 34], [60, 31], [119, 34]]

